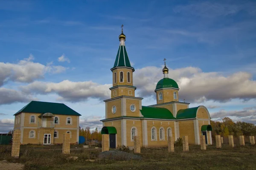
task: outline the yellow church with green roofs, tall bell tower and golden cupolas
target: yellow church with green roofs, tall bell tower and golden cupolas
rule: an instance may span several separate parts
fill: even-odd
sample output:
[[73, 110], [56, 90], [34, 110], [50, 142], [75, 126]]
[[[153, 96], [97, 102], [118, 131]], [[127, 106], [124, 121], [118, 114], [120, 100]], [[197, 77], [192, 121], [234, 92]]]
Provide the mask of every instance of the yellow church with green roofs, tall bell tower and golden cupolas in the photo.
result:
[[169, 69], [163, 68], [163, 79], [154, 90], [155, 105], [143, 106], [141, 97], [135, 97], [133, 72], [125, 47], [126, 36], [119, 35], [119, 48], [113, 68], [111, 99], [105, 100], [105, 119], [102, 134], [109, 134], [111, 148], [118, 145], [134, 146], [134, 136], [140, 136], [142, 147], [165, 147], [168, 136], [175, 141], [188, 136], [189, 144], [200, 144], [205, 135], [206, 144], [212, 144], [209, 111], [205, 106], [189, 108], [187, 102], [179, 102], [179, 86], [169, 78]]

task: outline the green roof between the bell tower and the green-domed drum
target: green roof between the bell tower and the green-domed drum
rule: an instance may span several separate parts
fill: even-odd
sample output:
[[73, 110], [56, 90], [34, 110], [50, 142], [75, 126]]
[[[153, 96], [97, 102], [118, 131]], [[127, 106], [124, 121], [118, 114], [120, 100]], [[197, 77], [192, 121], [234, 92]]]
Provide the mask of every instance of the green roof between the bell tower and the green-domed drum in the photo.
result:
[[142, 106], [142, 109], [140, 110], [140, 112], [144, 116], [144, 118], [175, 119], [175, 117], [172, 115], [172, 112], [170, 112], [166, 108], [154, 108], [154, 107]]

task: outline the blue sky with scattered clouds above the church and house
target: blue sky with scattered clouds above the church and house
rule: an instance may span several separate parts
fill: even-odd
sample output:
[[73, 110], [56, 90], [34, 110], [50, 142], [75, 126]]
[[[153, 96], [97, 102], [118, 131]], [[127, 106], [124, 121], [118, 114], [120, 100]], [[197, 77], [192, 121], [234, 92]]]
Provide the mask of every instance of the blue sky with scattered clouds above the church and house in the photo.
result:
[[156, 103], [166, 58], [180, 101], [207, 106], [214, 120], [256, 124], [253, 0], [0, 4], [0, 132], [32, 99], [64, 102], [82, 114], [82, 127], [100, 127], [122, 24], [143, 105]]

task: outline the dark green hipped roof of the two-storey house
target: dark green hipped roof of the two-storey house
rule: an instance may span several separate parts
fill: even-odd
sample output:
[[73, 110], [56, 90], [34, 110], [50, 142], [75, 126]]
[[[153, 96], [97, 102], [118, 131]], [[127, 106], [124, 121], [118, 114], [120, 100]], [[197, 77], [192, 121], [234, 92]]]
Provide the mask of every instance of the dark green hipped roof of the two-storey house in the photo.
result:
[[25, 112], [25, 113], [52, 113], [60, 115], [71, 115], [71, 116], [81, 116], [73, 109], [69, 108], [63, 103], [51, 103], [51, 102], [38, 102], [32, 101], [27, 104], [24, 108], [20, 109], [14, 115]]

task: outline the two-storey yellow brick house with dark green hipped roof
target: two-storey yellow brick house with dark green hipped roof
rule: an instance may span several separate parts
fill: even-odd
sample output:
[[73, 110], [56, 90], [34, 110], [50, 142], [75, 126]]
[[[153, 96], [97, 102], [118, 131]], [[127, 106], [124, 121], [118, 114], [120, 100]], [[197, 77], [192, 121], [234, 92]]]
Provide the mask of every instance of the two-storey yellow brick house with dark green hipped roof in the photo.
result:
[[70, 143], [79, 142], [81, 114], [63, 103], [31, 101], [14, 116], [21, 144], [61, 144], [64, 133], [70, 134]]

